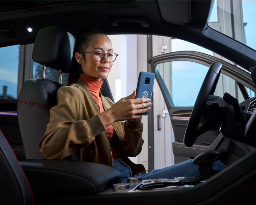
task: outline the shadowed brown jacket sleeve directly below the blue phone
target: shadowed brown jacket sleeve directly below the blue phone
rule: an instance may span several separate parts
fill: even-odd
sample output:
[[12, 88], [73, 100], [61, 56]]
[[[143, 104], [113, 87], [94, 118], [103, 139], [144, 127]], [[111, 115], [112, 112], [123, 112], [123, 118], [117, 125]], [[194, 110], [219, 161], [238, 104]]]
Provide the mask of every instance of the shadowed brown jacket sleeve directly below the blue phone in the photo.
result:
[[139, 120], [121, 122], [124, 130], [125, 153], [128, 157], [140, 154], [144, 140], [142, 139], [143, 123]]

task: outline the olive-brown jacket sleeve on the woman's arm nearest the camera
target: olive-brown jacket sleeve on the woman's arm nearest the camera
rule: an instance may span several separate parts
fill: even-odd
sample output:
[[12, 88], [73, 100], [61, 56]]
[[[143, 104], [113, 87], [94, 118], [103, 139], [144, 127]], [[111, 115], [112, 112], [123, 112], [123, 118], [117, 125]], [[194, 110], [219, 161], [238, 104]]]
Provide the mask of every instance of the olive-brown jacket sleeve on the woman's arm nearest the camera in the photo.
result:
[[[57, 106], [50, 110], [50, 122], [39, 143], [39, 151], [45, 159], [62, 159], [88, 146], [95, 136], [106, 128], [99, 114], [89, 120], [77, 120], [79, 98], [75, 88], [60, 87], [57, 92]], [[95, 125], [97, 128], [95, 129]]]

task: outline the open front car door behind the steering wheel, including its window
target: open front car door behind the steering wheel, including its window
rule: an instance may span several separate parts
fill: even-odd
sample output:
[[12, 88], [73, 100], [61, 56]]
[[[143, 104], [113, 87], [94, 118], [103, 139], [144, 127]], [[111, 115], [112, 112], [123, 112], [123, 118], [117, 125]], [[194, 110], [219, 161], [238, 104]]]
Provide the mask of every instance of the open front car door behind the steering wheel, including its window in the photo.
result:
[[[157, 83], [162, 91], [166, 103], [175, 141], [172, 142], [174, 163], [180, 163], [193, 159], [205, 150], [220, 149], [228, 150], [230, 146], [233, 153], [227, 158], [226, 165], [245, 155], [248, 147], [225, 139], [219, 132], [207, 131], [200, 135], [192, 147], [183, 144], [188, 120], [201, 88], [204, 77], [214, 61], [222, 64], [222, 71], [215, 95], [223, 97], [225, 92], [238, 99], [238, 102], [249, 100], [247, 90], [251, 90], [255, 96], [255, 88], [250, 73], [238, 68], [225, 60], [195, 51], [178, 51], [155, 56], [148, 59], [152, 72], [156, 74]], [[247, 105], [246, 103], [244, 103]], [[247, 111], [246, 106], [241, 104]], [[231, 144], [231, 145], [230, 145]], [[239, 148], [237, 148], [239, 147]], [[232, 149], [232, 148], [231, 148]], [[242, 149], [244, 154], [237, 154]]]

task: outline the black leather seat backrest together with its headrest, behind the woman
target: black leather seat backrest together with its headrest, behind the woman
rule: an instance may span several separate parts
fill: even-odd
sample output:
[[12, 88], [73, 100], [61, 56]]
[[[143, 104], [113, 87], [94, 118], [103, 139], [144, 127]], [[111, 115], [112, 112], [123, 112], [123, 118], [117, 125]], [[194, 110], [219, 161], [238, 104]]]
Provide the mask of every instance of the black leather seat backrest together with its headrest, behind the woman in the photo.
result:
[[[69, 73], [75, 38], [59, 27], [39, 30], [33, 47], [33, 60], [52, 69]], [[56, 105], [60, 83], [48, 79], [28, 79], [17, 99], [17, 115], [26, 159], [44, 159], [38, 145], [46, 125], [50, 109]]]

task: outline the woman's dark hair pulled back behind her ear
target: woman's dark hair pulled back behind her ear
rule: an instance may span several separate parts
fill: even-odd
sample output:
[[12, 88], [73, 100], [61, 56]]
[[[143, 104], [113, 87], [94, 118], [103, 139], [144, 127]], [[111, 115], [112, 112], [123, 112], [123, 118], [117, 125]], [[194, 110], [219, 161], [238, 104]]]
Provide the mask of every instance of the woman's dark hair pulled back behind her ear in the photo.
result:
[[[108, 37], [106, 33], [95, 28], [87, 29], [86, 31], [81, 31], [77, 36], [67, 86], [76, 83], [80, 77], [80, 74], [83, 73], [82, 66], [81, 64], [77, 63], [75, 54], [78, 51], [85, 51], [85, 49], [89, 46], [89, 43], [94, 35], [105, 35]], [[85, 62], [85, 53], [81, 54], [81, 60]]]

